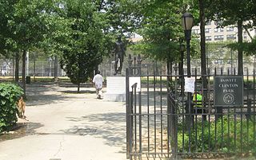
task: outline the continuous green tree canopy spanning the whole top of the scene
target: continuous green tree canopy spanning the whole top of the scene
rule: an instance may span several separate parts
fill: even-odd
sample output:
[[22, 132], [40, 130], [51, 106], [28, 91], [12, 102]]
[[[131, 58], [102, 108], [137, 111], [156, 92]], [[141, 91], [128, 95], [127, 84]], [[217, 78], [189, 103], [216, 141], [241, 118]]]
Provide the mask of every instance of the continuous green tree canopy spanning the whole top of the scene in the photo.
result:
[[254, 0], [3, 0], [0, 9], [3, 56], [23, 51], [25, 57], [24, 53], [34, 48], [54, 56], [58, 53], [62, 67], [76, 84], [87, 80], [103, 57], [110, 55], [119, 34], [142, 35], [143, 41], [134, 49], [146, 57], [178, 60], [180, 41], [184, 38], [180, 24], [184, 12], [194, 14], [194, 24], [215, 20], [219, 27], [238, 25], [238, 44], [230, 46], [238, 49], [240, 68], [242, 51], [254, 54], [255, 40], [241, 41], [241, 30], [255, 27]]

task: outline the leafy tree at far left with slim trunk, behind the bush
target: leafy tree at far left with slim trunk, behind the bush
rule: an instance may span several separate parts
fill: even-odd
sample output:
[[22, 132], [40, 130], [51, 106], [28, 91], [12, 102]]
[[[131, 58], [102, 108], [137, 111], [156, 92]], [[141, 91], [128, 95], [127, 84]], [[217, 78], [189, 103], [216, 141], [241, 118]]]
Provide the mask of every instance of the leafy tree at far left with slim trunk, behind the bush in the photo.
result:
[[[17, 54], [22, 52], [22, 88], [26, 96], [25, 83], [25, 66], [26, 52], [39, 41], [50, 30], [50, 25], [46, 23], [46, 19], [52, 14], [54, 2], [42, 0], [10, 0], [0, 3], [4, 21], [4, 31], [0, 33], [0, 41], [2, 41], [1, 51], [12, 50]], [[17, 73], [17, 72], [16, 72]]]

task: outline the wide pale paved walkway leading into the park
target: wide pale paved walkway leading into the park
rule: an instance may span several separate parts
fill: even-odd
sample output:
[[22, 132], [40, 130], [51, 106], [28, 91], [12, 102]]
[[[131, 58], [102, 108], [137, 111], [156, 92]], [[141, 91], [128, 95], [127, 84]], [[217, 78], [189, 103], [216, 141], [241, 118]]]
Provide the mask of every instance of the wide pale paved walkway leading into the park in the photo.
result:
[[26, 119], [0, 135], [1, 160], [125, 160], [126, 108], [96, 99], [94, 88], [27, 86]]

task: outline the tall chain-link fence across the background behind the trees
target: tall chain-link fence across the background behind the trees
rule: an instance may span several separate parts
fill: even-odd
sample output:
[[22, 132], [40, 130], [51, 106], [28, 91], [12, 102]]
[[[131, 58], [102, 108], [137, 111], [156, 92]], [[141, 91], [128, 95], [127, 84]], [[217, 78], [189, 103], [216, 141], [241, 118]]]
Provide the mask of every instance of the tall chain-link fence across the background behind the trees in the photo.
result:
[[[186, 53], [185, 53], [186, 54]], [[133, 59], [136, 61], [136, 57]], [[195, 74], [194, 68], [197, 68], [198, 74], [201, 74], [201, 60], [200, 58], [191, 58], [191, 70], [192, 74]], [[14, 76], [14, 60], [12, 59], [0, 59], [0, 76]], [[252, 74], [256, 65], [256, 59], [254, 56], [243, 57], [244, 72], [249, 70], [248, 74]], [[122, 75], [125, 75], [125, 68], [128, 68], [128, 57], [125, 57], [122, 67]], [[142, 58], [142, 73], [152, 72], [151, 68], [156, 68], [155, 74], [166, 74], [166, 62], [157, 60], [145, 60]], [[238, 52], [232, 51], [224, 44], [206, 44], [206, 68], [209, 68], [209, 74], [217, 72], [220, 74], [236, 74], [238, 72]], [[114, 75], [114, 58], [105, 60], [98, 66], [98, 69], [102, 72], [102, 76]], [[150, 70], [151, 69], [151, 70]], [[216, 69], [216, 71], [214, 70]], [[174, 73], [174, 69], [172, 69]], [[186, 59], [184, 59], [184, 73], [186, 75]], [[22, 76], [22, 60], [19, 63], [19, 76]], [[26, 76], [54, 76], [54, 60], [30, 60], [26, 62]], [[60, 65], [58, 64], [58, 76], [66, 76]]]

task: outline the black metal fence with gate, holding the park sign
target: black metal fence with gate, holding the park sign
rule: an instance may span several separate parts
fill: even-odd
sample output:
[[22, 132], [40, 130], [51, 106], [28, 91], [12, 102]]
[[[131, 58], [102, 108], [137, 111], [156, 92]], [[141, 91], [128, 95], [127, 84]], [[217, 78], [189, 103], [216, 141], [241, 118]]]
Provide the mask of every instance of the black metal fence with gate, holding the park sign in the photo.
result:
[[[255, 156], [255, 70], [243, 76], [241, 106], [214, 105], [214, 76], [232, 76], [235, 71], [225, 71], [224, 75], [222, 69], [214, 69], [210, 75], [208, 69], [203, 75], [206, 80], [202, 80], [195, 69], [194, 90], [202, 100], [188, 102], [181, 87], [184, 80], [177, 71], [175, 75], [156, 76], [155, 70], [142, 75], [138, 65], [126, 69], [127, 158]], [[134, 77], [140, 77], [140, 82], [134, 82]]]

